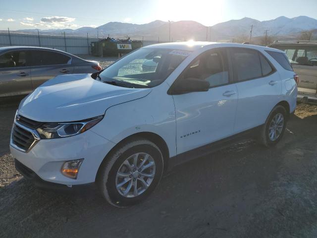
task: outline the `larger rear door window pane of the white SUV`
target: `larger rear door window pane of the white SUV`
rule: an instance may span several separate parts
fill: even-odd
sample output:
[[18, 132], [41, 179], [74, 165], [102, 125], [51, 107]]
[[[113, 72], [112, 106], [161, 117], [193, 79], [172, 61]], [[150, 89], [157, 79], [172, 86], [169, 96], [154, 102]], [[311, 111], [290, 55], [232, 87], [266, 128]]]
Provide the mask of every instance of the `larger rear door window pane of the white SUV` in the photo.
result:
[[237, 81], [244, 81], [262, 76], [259, 53], [248, 49], [232, 49], [232, 65]]

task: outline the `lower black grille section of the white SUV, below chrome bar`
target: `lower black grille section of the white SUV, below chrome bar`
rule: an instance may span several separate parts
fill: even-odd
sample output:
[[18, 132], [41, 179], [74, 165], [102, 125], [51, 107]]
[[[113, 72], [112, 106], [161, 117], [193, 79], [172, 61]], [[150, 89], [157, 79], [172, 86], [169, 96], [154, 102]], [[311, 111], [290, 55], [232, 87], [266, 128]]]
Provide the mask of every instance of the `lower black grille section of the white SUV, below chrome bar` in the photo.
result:
[[30, 131], [23, 129], [15, 123], [13, 124], [11, 139], [14, 145], [24, 151], [27, 151], [35, 141]]

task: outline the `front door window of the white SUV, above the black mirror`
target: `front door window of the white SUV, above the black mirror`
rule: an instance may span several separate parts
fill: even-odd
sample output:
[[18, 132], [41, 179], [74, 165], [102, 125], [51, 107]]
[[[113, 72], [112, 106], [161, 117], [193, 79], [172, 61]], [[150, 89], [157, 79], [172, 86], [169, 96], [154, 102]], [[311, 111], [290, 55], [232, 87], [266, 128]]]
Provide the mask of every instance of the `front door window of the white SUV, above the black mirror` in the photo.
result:
[[198, 78], [209, 82], [210, 87], [229, 82], [227, 57], [224, 51], [211, 50], [194, 60], [184, 72], [184, 78]]

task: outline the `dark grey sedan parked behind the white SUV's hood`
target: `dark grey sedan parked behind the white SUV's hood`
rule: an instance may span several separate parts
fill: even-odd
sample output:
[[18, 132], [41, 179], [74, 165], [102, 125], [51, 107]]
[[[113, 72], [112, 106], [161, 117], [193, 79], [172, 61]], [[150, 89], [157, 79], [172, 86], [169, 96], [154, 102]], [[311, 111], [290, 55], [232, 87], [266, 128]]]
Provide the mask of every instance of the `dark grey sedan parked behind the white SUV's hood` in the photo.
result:
[[0, 47], [0, 97], [25, 95], [45, 81], [72, 73], [94, 73], [98, 61], [41, 47]]

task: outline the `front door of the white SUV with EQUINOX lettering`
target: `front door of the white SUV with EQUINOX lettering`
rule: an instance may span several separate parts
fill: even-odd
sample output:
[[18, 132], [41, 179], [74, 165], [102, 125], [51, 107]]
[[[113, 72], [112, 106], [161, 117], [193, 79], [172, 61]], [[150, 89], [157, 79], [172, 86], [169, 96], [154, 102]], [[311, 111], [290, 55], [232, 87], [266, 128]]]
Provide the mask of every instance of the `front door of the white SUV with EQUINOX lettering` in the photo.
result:
[[225, 50], [215, 49], [194, 60], [177, 80], [207, 80], [207, 92], [173, 95], [176, 111], [177, 154], [233, 134], [238, 93], [230, 84]]

